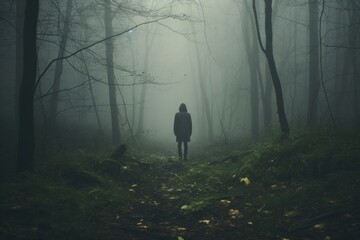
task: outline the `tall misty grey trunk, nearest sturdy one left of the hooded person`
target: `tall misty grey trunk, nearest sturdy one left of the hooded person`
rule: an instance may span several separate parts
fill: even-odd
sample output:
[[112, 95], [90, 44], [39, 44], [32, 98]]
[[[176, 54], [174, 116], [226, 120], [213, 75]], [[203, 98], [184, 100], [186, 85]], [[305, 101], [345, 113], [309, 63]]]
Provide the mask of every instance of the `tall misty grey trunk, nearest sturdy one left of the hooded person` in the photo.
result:
[[[110, 1], [105, 1], [105, 37], [113, 35], [112, 28], [112, 11]], [[119, 127], [119, 109], [116, 100], [116, 85], [115, 85], [115, 72], [114, 72], [114, 45], [113, 39], [110, 38], [105, 42], [105, 55], [106, 55], [106, 72], [109, 86], [109, 101], [111, 112], [111, 127], [112, 127], [112, 142], [117, 144], [120, 142], [120, 127]]]

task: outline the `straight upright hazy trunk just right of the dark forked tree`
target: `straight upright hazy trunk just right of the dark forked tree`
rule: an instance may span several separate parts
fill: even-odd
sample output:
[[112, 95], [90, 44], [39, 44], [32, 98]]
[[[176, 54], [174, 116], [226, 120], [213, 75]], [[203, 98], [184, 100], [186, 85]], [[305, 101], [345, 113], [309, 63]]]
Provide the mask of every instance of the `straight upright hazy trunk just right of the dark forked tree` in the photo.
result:
[[318, 0], [309, 0], [309, 98], [307, 124], [317, 122], [319, 99], [319, 11]]

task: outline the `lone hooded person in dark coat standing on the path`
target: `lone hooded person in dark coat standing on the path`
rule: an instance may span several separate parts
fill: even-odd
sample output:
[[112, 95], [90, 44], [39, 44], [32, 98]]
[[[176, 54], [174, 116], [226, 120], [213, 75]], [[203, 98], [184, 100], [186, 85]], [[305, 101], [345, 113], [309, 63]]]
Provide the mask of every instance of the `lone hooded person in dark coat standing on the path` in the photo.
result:
[[[188, 155], [188, 142], [190, 142], [190, 136], [192, 133], [191, 115], [187, 112], [186, 105], [180, 104], [179, 112], [175, 114], [174, 118], [174, 134], [176, 136], [176, 142], [178, 143], [179, 159], [187, 160]], [[181, 145], [184, 143], [184, 155], [182, 154]]]

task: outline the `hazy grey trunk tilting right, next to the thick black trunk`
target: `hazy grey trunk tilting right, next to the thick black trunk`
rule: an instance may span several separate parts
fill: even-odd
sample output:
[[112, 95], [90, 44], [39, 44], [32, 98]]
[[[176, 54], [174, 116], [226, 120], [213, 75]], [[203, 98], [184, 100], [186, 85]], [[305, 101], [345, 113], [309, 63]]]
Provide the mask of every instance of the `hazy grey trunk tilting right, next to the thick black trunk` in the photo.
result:
[[49, 130], [50, 133], [52, 134], [56, 133], [56, 115], [59, 104], [59, 89], [60, 89], [61, 74], [63, 70], [63, 59], [61, 58], [64, 57], [65, 48], [68, 40], [71, 11], [72, 11], [72, 0], [67, 0], [64, 28], [62, 31], [59, 31], [59, 33], [61, 34], [61, 40], [58, 49], [58, 58], [60, 58], [60, 60], [58, 60], [55, 65], [54, 83], [52, 86], [52, 91], [54, 93], [51, 95], [50, 98]]

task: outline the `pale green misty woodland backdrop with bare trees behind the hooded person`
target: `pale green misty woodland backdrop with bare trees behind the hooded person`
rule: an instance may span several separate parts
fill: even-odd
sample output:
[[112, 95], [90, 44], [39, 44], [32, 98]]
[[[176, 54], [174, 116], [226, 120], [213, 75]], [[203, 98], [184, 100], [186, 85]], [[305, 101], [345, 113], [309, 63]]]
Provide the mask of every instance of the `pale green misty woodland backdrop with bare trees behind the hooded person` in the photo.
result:
[[22, 170], [62, 140], [175, 142], [182, 102], [198, 144], [356, 126], [359, 10], [355, 0], [1, 1], [1, 154], [19, 153]]

